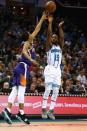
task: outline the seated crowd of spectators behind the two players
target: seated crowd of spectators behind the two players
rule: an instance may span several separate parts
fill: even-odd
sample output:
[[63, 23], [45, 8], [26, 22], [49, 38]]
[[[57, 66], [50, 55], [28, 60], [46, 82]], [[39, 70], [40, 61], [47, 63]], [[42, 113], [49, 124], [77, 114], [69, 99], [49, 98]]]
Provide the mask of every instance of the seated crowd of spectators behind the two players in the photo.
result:
[[[62, 18], [61, 18], [62, 19]], [[82, 29], [63, 18], [64, 48], [61, 63], [62, 86], [60, 94], [87, 94], [87, 37]], [[59, 17], [53, 22], [53, 32], [58, 32]], [[0, 9], [0, 92], [10, 92], [12, 88], [13, 68], [21, 55], [23, 43], [22, 33], [32, 32], [36, 22], [24, 16], [15, 16], [6, 9]], [[27, 78], [26, 93], [43, 93], [44, 67], [46, 65], [47, 22], [34, 40], [36, 59], [40, 68], [30, 67], [30, 76]]]

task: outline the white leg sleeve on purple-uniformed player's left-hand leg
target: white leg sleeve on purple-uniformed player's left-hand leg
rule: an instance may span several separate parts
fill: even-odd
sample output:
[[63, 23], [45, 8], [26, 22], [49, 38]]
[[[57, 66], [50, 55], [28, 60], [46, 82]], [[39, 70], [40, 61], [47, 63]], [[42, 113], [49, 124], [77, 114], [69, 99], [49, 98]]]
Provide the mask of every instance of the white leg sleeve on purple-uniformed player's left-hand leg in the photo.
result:
[[14, 87], [12, 88], [12, 91], [11, 91], [9, 97], [8, 97], [8, 102], [9, 102], [9, 103], [12, 103], [12, 104], [14, 103], [15, 98], [16, 98], [16, 96], [17, 96], [17, 92], [18, 92], [17, 87], [14, 86]]

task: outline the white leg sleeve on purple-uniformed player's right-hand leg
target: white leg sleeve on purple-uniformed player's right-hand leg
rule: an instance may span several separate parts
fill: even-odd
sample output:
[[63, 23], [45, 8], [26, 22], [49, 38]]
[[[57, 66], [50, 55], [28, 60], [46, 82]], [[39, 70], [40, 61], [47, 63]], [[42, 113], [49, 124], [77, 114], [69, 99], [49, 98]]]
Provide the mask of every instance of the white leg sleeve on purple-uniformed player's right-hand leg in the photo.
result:
[[26, 87], [24, 86], [18, 87], [18, 103], [24, 103], [25, 89]]

